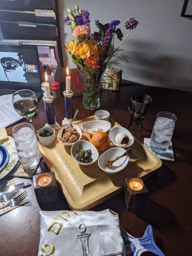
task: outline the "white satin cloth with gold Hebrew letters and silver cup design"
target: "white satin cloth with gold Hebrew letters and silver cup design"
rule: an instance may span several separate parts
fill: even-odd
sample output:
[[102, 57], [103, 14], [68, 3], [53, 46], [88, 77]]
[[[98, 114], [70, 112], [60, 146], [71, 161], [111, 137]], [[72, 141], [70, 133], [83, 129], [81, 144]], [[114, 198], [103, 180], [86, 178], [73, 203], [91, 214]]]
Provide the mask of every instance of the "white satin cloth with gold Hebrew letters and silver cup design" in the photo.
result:
[[125, 255], [118, 214], [94, 211], [40, 211], [38, 256]]

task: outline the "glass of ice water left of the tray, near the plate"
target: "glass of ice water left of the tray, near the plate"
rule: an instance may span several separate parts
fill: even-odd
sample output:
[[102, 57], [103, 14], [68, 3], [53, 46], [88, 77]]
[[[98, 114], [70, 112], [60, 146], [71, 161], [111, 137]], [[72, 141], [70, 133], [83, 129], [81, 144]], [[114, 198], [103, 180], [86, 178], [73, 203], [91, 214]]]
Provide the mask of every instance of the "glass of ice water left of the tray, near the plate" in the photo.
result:
[[15, 125], [12, 134], [20, 163], [24, 168], [35, 168], [40, 161], [40, 151], [33, 125], [29, 123]]

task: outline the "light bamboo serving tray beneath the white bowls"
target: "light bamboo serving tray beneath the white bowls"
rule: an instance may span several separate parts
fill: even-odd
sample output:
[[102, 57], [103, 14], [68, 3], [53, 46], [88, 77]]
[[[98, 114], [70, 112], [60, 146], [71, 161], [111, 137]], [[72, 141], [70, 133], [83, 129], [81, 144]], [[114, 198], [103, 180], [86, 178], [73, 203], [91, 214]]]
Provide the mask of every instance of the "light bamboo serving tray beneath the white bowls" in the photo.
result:
[[[93, 116], [75, 122], [81, 127], [86, 121], [94, 120]], [[120, 126], [115, 120], [110, 120], [111, 128]], [[90, 135], [83, 132], [81, 140], [90, 140]], [[65, 147], [57, 139], [49, 147], [39, 145], [42, 157], [55, 173], [60, 183], [70, 209], [88, 210], [124, 188], [127, 177], [145, 177], [161, 166], [157, 158], [147, 147], [134, 138], [132, 155], [127, 167], [120, 173], [109, 174], [100, 170], [97, 162], [90, 166], [77, 164], [70, 155], [71, 147]], [[109, 147], [113, 147], [110, 143]]]

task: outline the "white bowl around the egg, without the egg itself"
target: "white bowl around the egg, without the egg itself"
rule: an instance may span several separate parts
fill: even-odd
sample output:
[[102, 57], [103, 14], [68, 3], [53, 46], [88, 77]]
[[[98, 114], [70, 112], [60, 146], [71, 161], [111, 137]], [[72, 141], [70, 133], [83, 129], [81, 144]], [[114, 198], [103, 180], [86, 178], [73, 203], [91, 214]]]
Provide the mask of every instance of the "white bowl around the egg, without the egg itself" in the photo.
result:
[[[116, 136], [116, 134], [118, 134], [120, 132], [125, 133], [128, 136], [129, 142], [127, 143], [127, 145], [119, 145], [116, 143], [115, 136]], [[110, 138], [111, 142], [113, 143], [113, 145], [115, 145], [117, 147], [128, 148], [128, 147], [131, 147], [131, 145], [134, 143], [134, 138], [133, 138], [131, 132], [129, 132], [124, 127], [113, 127], [111, 129], [111, 131], [109, 132], [109, 138]]]

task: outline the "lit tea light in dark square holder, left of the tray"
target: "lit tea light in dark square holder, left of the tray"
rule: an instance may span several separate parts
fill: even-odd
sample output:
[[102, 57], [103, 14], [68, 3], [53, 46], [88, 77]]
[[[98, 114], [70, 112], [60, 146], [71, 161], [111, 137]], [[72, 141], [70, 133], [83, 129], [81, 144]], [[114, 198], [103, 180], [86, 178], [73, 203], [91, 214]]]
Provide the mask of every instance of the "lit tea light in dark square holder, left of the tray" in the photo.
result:
[[57, 200], [57, 183], [53, 172], [33, 176], [33, 186], [38, 203]]

